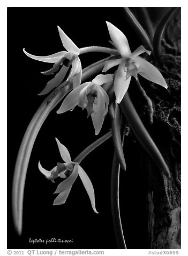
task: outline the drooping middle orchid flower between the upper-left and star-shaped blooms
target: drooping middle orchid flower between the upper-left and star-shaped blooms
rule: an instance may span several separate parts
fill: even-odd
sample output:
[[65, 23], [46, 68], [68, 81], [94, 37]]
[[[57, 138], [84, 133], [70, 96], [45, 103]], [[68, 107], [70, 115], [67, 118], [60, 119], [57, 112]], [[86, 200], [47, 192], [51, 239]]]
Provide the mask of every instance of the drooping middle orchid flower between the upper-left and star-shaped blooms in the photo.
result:
[[64, 99], [57, 113], [64, 113], [72, 110], [76, 105], [87, 109], [88, 116], [91, 115], [95, 134], [99, 134], [104, 117], [108, 112], [109, 97], [101, 87], [104, 83], [112, 83], [113, 76], [97, 75], [92, 82], [86, 82], [71, 91]]

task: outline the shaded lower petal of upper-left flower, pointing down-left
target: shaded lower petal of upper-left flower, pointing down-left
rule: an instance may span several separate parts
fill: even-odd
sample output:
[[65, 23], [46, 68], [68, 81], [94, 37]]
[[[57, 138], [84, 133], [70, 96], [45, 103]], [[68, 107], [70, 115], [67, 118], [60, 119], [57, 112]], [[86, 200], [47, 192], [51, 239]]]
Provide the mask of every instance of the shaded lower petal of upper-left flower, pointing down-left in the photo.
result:
[[52, 89], [59, 86], [59, 84], [62, 83], [68, 70], [69, 70], [69, 67], [66, 67], [63, 65], [63, 67], [59, 70], [59, 72], [55, 75], [55, 77], [47, 83], [46, 87], [38, 95], [48, 94]]

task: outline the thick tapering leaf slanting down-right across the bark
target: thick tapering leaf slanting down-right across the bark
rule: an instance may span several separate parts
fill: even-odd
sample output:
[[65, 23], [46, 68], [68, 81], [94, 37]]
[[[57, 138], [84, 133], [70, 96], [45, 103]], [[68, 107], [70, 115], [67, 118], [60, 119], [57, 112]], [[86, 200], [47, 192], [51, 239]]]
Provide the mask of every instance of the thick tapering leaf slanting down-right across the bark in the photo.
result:
[[151, 156], [151, 158], [154, 160], [156, 165], [163, 171], [163, 173], [167, 177], [170, 177], [169, 168], [164, 161], [159, 149], [147, 132], [144, 124], [142, 124], [140, 117], [138, 116], [138, 113], [134, 108], [134, 105], [132, 104], [128, 92], [126, 92], [124, 98], [122, 99], [122, 102], [120, 103], [120, 106], [127, 122], [130, 124], [130, 127], [140, 144], [145, 148], [146, 152]]

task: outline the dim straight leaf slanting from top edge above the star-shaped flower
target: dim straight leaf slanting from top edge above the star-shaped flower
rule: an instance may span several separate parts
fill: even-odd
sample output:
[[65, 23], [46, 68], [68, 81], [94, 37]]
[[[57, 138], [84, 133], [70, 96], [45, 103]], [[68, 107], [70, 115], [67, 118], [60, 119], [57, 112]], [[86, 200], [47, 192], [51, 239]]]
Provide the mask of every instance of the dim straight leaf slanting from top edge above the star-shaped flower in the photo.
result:
[[133, 15], [131, 10], [128, 7], [124, 7], [125, 17], [127, 22], [132, 26], [133, 30], [138, 34], [138, 37], [142, 41], [142, 43], [151, 51], [153, 51], [152, 44], [149, 40], [149, 37], [143, 27], [140, 25], [136, 17]]

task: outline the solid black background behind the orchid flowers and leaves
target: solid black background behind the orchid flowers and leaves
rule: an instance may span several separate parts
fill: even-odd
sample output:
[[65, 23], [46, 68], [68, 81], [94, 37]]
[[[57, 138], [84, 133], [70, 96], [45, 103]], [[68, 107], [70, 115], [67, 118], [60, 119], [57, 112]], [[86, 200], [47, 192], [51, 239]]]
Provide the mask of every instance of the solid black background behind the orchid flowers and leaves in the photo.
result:
[[[109, 117], [99, 136], [95, 136], [91, 118], [76, 107], [72, 112], [57, 115], [60, 104], [44, 122], [29, 161], [24, 194], [24, 216], [21, 237], [14, 231], [11, 214], [11, 189], [14, 164], [25, 130], [45, 96], [37, 96], [49, 77], [40, 72], [50, 63], [28, 58], [22, 48], [34, 55], [49, 55], [63, 51], [57, 25], [79, 47], [110, 47], [109, 21], [125, 34], [131, 51], [141, 42], [127, 24], [122, 8], [8, 8], [7, 9], [7, 100], [8, 100], [8, 248], [117, 248], [110, 208], [110, 172], [113, 157], [109, 139], [82, 161], [95, 190], [96, 209], [92, 210], [88, 195], [78, 178], [63, 205], [52, 205], [58, 181], [52, 183], [39, 172], [39, 160], [46, 169], [62, 162], [55, 137], [70, 151], [74, 159], [86, 146], [110, 129]], [[107, 54], [89, 53], [80, 56], [82, 67], [105, 58]], [[137, 151], [137, 149], [136, 149]], [[137, 152], [135, 152], [137, 153]], [[127, 152], [129, 155], [129, 152]], [[121, 215], [128, 248], [147, 248], [147, 224], [144, 190], [139, 166], [129, 155], [127, 166], [133, 170], [121, 172]], [[134, 173], [135, 172], [137, 174]], [[73, 239], [73, 243], [29, 243], [31, 239]]]

